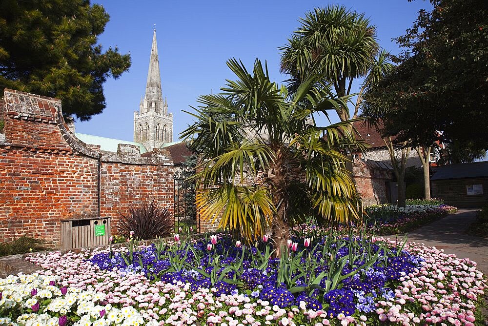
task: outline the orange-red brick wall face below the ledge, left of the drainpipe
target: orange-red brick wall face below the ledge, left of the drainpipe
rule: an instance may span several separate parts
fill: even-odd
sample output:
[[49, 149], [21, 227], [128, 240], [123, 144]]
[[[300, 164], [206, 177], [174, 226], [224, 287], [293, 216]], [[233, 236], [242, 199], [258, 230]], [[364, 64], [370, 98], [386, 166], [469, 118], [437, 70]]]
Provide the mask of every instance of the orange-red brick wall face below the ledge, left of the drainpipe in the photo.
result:
[[97, 216], [97, 161], [0, 146], [0, 241], [61, 240], [62, 218]]

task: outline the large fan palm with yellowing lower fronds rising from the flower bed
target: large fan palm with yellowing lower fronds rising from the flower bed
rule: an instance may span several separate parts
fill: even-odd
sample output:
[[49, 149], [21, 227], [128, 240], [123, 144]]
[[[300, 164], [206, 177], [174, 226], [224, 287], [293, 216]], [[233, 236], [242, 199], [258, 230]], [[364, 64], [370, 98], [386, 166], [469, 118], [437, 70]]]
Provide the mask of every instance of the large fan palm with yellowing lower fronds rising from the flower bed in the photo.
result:
[[[360, 144], [349, 123], [315, 125], [313, 116], [344, 105], [317, 77], [288, 97], [256, 60], [252, 73], [230, 60], [236, 81], [224, 93], [201, 96], [190, 113], [196, 122], [182, 133], [201, 155], [195, 176], [202, 219], [249, 241], [270, 227], [275, 255], [290, 225], [306, 216], [319, 224], [360, 221], [355, 186], [346, 172], [346, 149]], [[189, 113], [189, 112], [188, 112]]]

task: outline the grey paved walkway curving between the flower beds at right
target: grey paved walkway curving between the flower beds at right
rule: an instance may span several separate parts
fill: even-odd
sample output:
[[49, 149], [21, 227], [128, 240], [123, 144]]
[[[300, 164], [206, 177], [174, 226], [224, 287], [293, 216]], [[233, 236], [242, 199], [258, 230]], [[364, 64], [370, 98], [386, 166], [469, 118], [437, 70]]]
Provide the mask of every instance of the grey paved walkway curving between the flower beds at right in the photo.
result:
[[475, 221], [475, 215], [474, 209], [460, 209], [455, 214], [409, 232], [408, 241], [444, 249], [445, 253], [455, 254], [458, 258], [468, 257], [488, 274], [488, 238], [464, 234]]

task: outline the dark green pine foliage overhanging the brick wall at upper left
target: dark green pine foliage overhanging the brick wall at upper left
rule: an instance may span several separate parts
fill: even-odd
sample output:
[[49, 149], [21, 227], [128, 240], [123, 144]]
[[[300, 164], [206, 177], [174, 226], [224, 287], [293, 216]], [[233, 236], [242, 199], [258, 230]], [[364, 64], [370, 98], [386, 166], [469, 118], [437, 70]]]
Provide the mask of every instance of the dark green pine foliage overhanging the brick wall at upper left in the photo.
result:
[[97, 44], [108, 20], [88, 0], [0, 1], [0, 90], [59, 98], [81, 120], [101, 113], [103, 82], [130, 67], [128, 54]]

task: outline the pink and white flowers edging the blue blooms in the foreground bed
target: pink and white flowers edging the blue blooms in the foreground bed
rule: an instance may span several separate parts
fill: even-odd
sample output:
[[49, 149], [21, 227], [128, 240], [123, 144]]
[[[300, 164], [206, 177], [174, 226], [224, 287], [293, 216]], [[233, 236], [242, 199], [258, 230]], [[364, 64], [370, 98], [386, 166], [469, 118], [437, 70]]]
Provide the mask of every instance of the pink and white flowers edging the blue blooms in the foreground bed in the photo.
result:
[[[379, 240], [391, 247], [398, 246], [388, 239]], [[398, 275], [396, 288], [390, 293], [371, 298], [361, 291], [353, 294], [338, 289], [325, 294], [330, 306], [334, 300], [339, 306], [344, 304], [351, 295], [356, 302], [363, 300], [347, 316], [343, 313], [329, 316], [321, 306], [313, 308], [306, 298], [289, 306], [273, 305], [273, 296], [277, 300], [280, 297], [279, 290], [268, 293], [269, 300], [263, 299], [264, 289], [261, 296], [255, 295], [256, 291], [248, 295], [236, 290], [218, 295], [217, 285], [195, 288], [175, 279], [171, 283], [151, 281], [144, 272], [132, 270], [132, 265], [105, 270], [88, 260], [106, 255], [107, 250], [39, 253], [27, 259], [46, 271], [0, 279], [0, 325], [478, 323], [478, 299], [484, 295], [487, 283], [475, 262], [415, 243], [407, 243], [404, 250], [419, 257], [418, 267]], [[371, 275], [374, 276], [374, 271]], [[361, 309], [361, 305], [364, 308], [368, 304], [373, 307], [371, 311]]]

